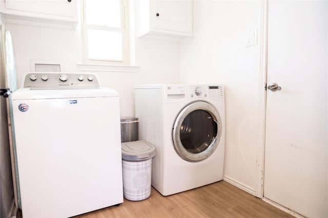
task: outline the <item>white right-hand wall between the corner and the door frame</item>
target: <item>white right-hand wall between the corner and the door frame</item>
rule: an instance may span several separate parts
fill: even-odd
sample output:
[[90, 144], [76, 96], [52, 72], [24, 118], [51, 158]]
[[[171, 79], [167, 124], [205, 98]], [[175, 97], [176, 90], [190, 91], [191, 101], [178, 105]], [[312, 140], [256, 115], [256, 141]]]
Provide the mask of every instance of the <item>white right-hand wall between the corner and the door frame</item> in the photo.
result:
[[[194, 1], [194, 38], [181, 43], [180, 79], [226, 90], [224, 179], [255, 195], [260, 122], [260, 1]], [[259, 41], [259, 38], [258, 38]]]

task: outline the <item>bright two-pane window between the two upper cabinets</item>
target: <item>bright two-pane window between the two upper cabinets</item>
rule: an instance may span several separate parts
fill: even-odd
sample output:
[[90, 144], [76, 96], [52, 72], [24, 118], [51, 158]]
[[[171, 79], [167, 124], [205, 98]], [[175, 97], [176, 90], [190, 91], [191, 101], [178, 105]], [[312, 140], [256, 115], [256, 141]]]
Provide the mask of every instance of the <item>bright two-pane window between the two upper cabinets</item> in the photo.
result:
[[128, 1], [82, 1], [83, 59], [87, 64], [129, 65]]

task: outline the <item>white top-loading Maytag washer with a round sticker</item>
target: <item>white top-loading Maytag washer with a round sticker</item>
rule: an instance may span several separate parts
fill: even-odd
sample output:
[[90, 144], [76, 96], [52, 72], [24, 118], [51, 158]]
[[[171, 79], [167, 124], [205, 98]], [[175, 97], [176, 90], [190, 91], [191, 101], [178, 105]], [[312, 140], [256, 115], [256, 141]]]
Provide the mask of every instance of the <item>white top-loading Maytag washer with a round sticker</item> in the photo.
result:
[[95, 75], [33, 73], [12, 94], [23, 217], [123, 202], [119, 97]]

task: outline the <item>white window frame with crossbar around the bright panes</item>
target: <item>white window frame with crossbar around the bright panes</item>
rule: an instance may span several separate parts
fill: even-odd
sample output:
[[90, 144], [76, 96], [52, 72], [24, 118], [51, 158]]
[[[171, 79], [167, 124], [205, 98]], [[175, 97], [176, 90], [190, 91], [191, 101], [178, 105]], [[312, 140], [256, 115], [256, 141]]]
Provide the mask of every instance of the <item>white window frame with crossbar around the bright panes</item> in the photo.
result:
[[[130, 65], [130, 28], [129, 28], [129, 1], [119, 0], [121, 10], [121, 28], [105, 25], [90, 25], [86, 23], [86, 1], [81, 0], [81, 43], [84, 64], [97, 65]], [[93, 59], [89, 58], [88, 29], [106, 30], [122, 33], [122, 60]]]

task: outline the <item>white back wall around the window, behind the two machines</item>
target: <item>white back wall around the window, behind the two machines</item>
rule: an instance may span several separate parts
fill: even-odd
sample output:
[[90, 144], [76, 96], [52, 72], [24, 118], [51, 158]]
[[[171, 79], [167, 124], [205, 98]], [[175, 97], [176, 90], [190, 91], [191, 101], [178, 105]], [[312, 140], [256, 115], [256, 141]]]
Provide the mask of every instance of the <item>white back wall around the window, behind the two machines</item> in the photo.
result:
[[[6, 25], [13, 38], [18, 86], [21, 77], [30, 71], [30, 60], [63, 62], [61, 71], [77, 72], [82, 63], [81, 34], [77, 30]], [[136, 38], [135, 63], [138, 72], [94, 72], [104, 87], [119, 92], [121, 116], [134, 116], [133, 85], [176, 83], [179, 72], [180, 43]], [[85, 72], [85, 71], [84, 71]]]

